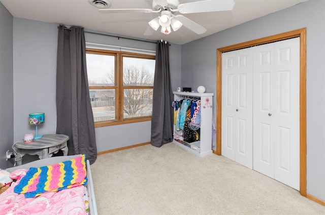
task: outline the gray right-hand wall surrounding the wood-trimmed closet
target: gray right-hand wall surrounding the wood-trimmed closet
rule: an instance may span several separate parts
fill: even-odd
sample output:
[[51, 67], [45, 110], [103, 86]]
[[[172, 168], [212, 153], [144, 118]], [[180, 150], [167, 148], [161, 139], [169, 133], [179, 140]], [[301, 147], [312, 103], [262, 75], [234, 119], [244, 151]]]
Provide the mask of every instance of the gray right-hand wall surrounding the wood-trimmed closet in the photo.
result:
[[[216, 93], [216, 49], [307, 27], [307, 193], [325, 200], [325, 2], [309, 0], [182, 46], [182, 85]], [[216, 99], [214, 97], [214, 107]], [[214, 108], [214, 116], [215, 116]]]

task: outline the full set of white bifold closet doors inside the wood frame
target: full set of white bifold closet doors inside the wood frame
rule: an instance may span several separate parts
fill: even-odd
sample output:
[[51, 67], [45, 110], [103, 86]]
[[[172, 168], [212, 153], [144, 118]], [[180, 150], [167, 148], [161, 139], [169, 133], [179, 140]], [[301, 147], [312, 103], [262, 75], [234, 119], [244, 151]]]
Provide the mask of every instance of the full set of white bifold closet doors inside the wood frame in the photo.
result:
[[222, 155], [300, 189], [299, 38], [222, 54]]

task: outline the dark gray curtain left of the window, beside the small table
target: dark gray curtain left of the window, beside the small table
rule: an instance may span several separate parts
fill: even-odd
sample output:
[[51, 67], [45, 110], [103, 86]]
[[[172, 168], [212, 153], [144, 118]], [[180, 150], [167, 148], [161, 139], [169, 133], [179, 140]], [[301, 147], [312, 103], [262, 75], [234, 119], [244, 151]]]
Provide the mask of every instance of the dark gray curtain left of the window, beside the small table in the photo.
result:
[[60, 25], [56, 67], [56, 134], [70, 137], [69, 155], [96, 160], [95, 128], [89, 98], [84, 30]]

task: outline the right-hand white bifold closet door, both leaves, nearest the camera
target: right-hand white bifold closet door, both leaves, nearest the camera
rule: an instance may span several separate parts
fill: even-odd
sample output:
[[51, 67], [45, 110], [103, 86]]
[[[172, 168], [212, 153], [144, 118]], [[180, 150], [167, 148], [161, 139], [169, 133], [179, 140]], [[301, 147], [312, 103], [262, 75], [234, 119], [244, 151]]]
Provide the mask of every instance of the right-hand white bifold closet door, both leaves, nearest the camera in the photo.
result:
[[300, 189], [299, 38], [254, 47], [253, 169]]

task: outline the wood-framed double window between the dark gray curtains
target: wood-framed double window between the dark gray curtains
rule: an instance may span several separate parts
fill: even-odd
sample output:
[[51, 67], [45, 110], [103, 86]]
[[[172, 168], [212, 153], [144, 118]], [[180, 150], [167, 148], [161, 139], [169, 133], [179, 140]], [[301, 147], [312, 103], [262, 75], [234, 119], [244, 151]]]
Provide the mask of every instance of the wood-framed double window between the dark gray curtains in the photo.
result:
[[155, 56], [86, 49], [95, 127], [151, 120]]

